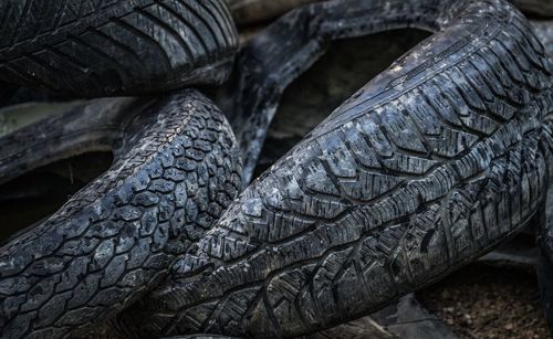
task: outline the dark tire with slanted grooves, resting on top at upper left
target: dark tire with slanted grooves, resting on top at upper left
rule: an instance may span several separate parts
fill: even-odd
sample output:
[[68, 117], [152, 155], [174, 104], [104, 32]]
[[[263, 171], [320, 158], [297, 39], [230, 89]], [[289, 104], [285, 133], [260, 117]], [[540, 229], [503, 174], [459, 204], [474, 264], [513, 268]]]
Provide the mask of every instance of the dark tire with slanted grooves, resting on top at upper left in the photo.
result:
[[74, 97], [218, 85], [238, 36], [220, 0], [4, 0], [0, 80]]

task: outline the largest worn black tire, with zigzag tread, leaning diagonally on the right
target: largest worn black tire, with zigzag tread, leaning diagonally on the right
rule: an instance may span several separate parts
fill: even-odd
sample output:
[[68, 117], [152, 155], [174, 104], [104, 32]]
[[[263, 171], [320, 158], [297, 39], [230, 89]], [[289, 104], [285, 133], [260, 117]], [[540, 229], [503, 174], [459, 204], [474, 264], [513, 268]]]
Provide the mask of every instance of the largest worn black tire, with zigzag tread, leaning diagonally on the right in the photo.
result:
[[255, 180], [118, 330], [319, 331], [438, 280], [533, 218], [553, 149], [552, 67], [509, 3], [332, 1], [258, 41], [302, 46], [283, 51], [296, 70], [324, 36], [414, 27], [436, 34]]

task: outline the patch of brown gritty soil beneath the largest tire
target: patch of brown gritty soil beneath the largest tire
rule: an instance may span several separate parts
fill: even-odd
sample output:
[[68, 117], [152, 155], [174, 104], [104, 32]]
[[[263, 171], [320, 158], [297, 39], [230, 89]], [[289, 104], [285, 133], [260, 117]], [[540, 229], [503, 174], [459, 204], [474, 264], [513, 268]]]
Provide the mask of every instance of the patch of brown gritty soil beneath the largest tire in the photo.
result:
[[552, 338], [530, 267], [471, 264], [417, 298], [460, 338]]

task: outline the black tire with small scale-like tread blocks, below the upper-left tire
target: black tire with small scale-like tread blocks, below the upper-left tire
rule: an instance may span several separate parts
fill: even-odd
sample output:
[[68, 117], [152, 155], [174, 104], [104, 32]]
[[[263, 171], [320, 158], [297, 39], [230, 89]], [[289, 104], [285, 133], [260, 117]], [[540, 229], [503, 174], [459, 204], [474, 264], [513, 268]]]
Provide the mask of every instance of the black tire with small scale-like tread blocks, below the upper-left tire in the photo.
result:
[[0, 145], [2, 182], [75, 153], [115, 153], [107, 172], [0, 247], [2, 338], [98, 327], [156, 286], [240, 187], [230, 126], [196, 91], [93, 102]]

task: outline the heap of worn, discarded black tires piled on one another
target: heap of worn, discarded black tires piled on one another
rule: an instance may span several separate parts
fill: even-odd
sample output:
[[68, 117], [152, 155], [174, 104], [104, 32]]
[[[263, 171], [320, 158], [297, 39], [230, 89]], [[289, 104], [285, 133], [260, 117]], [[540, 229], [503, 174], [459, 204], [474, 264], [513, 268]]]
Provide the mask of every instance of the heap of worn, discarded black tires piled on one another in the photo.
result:
[[[0, 138], [0, 184], [114, 155], [0, 243], [1, 338], [315, 333], [529, 224], [551, 319], [553, 34], [513, 4], [6, 0], [0, 13], [0, 102], [86, 99]], [[240, 43], [236, 23], [279, 15]], [[331, 42], [397, 29], [431, 35], [253, 178], [286, 87]]]

